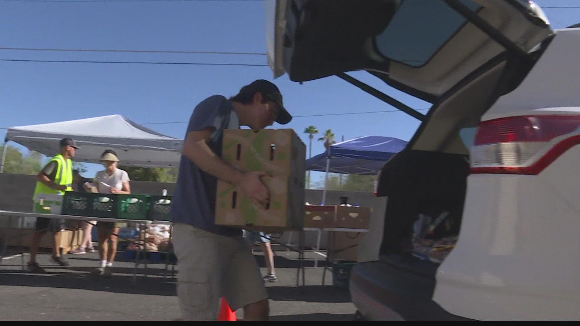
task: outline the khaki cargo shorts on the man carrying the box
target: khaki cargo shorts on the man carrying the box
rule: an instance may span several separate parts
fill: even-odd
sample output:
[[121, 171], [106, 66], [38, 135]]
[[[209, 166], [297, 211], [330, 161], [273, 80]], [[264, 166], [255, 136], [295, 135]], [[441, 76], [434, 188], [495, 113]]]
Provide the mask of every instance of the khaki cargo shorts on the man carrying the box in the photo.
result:
[[177, 297], [183, 320], [218, 320], [220, 300], [232, 310], [268, 298], [247, 241], [175, 223]]

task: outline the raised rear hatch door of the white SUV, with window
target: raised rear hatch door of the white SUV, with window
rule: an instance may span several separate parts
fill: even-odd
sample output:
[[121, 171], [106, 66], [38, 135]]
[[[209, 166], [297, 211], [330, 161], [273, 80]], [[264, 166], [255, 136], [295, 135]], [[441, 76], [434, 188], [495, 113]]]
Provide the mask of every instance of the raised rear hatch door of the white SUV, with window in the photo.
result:
[[525, 0], [271, 0], [267, 8], [274, 77], [366, 70], [432, 103], [506, 48], [525, 60], [552, 32]]

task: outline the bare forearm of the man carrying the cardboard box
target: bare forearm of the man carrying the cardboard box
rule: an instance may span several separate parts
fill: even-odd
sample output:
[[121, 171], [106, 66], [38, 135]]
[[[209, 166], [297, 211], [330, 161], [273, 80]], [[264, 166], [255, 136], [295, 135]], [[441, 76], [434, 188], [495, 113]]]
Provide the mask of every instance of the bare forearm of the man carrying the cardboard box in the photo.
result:
[[230, 184], [238, 184], [244, 176], [216, 156], [205, 142], [195, 143], [189, 151], [186, 150], [183, 154], [205, 173]]

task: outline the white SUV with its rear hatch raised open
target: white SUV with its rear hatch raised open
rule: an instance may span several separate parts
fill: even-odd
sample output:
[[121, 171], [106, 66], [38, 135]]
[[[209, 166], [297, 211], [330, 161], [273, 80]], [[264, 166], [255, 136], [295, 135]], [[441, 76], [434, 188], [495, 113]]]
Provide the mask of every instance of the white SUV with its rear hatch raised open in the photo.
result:
[[[360, 316], [580, 319], [580, 28], [552, 30], [525, 0], [267, 9], [275, 77], [337, 75], [422, 120], [380, 175], [380, 259], [355, 266], [350, 281]], [[417, 113], [353, 70], [433, 107]]]

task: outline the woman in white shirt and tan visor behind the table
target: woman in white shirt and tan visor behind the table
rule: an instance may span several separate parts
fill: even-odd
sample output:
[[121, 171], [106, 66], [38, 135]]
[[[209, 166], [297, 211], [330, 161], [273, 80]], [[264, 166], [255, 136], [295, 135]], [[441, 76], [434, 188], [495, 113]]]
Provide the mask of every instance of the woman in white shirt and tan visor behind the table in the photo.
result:
[[[129, 186], [129, 175], [126, 171], [117, 168], [119, 157], [114, 150], [106, 150], [100, 157], [100, 162], [105, 166], [103, 171], [97, 172], [93, 179], [93, 192], [110, 194], [131, 194]], [[113, 260], [117, 255], [118, 238], [114, 234], [119, 234], [119, 229], [125, 227], [126, 223], [98, 222], [99, 230], [99, 257], [101, 265], [93, 274], [99, 276], [111, 276]], [[110, 244], [109, 244], [110, 242]]]

